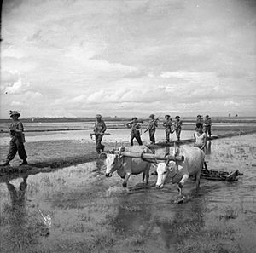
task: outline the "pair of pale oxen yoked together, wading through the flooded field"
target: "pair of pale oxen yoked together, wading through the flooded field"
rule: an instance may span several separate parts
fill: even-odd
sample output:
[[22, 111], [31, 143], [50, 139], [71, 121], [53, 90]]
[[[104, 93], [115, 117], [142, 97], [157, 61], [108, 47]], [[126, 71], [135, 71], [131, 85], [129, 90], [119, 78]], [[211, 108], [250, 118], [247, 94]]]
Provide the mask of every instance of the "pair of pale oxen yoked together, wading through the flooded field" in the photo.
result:
[[[123, 187], [127, 187], [127, 181], [131, 175], [143, 173], [143, 181], [148, 184], [149, 170], [151, 163], [141, 158], [130, 158], [122, 156], [122, 151], [146, 152], [152, 151], [146, 146], [120, 147], [119, 152], [104, 152], [101, 156], [106, 157], [106, 176], [112, 176], [114, 171], [124, 179]], [[157, 164], [157, 181], [155, 187], [162, 188], [166, 181], [172, 179], [172, 183], [177, 183], [179, 201], [182, 201], [183, 185], [189, 176], [195, 176], [196, 191], [199, 189], [201, 169], [204, 164], [205, 154], [198, 147], [178, 147], [173, 149], [174, 154], [183, 156], [183, 161], [166, 161]]]

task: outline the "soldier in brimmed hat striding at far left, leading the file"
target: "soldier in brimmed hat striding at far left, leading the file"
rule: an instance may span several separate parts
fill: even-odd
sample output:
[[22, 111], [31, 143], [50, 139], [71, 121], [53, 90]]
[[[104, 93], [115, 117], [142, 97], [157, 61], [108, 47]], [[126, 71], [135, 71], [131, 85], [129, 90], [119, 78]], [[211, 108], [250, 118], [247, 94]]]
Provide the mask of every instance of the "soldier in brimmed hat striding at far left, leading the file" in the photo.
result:
[[19, 117], [20, 113], [17, 111], [10, 111], [9, 116], [12, 118], [12, 123], [9, 126], [9, 134], [11, 140], [9, 142], [9, 152], [4, 164], [2, 166], [9, 165], [9, 162], [15, 158], [16, 153], [18, 152], [20, 159], [23, 160], [21, 165], [26, 165], [26, 150], [24, 147], [25, 136], [23, 124], [20, 122]]

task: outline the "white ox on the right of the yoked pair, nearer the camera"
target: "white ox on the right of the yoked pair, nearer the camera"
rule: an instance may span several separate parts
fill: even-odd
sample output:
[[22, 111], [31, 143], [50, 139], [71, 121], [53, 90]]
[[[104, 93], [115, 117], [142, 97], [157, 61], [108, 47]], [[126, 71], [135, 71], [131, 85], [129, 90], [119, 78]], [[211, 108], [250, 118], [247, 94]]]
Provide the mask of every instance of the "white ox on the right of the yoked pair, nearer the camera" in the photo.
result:
[[179, 155], [184, 156], [184, 161], [171, 161], [169, 164], [159, 163], [156, 169], [156, 187], [164, 187], [167, 175], [172, 178], [172, 183], [177, 183], [180, 197], [183, 199], [182, 188], [189, 175], [195, 175], [196, 191], [199, 189], [201, 169], [204, 163], [205, 154], [198, 147], [180, 147]]

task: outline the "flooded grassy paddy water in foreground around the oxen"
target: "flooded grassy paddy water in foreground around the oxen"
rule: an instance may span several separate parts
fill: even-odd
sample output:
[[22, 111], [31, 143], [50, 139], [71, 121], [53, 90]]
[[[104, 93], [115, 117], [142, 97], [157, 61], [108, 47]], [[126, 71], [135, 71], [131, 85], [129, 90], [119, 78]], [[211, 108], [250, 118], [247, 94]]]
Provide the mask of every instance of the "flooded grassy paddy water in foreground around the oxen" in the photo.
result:
[[[212, 141], [209, 169], [238, 181], [201, 180], [154, 188], [132, 175], [106, 178], [103, 161], [1, 181], [0, 252], [253, 252], [256, 246], [256, 135]], [[165, 152], [159, 150], [157, 152]], [[211, 251], [212, 250], [212, 251]]]

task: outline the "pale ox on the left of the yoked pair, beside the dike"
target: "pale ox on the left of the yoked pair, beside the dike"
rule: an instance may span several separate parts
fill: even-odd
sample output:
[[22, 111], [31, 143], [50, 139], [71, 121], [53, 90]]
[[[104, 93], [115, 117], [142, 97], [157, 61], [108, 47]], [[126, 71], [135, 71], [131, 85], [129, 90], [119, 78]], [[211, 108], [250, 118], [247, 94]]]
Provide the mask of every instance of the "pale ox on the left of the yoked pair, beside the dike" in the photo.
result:
[[[120, 147], [119, 150], [121, 150]], [[147, 152], [152, 153], [152, 151], [145, 146], [132, 146], [129, 148], [125, 148], [125, 151], [131, 152]], [[120, 152], [118, 154], [107, 153], [106, 158], [106, 176], [112, 176], [113, 172], [117, 170], [117, 173], [121, 178], [124, 178], [123, 187], [127, 187], [127, 181], [131, 175], [138, 175], [143, 172], [143, 181], [146, 176], [146, 184], [148, 184], [149, 179], [149, 170], [150, 170], [150, 163], [144, 161], [141, 158], [129, 158], [122, 156]]]

